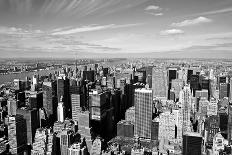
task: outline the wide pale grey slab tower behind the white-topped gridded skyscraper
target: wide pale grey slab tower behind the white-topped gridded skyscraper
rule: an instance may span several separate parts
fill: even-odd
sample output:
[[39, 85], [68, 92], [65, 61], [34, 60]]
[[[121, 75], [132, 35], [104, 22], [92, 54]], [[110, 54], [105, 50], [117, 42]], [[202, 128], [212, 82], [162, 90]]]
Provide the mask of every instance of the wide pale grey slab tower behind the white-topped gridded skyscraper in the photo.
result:
[[152, 69], [153, 97], [168, 97], [167, 73], [163, 68]]

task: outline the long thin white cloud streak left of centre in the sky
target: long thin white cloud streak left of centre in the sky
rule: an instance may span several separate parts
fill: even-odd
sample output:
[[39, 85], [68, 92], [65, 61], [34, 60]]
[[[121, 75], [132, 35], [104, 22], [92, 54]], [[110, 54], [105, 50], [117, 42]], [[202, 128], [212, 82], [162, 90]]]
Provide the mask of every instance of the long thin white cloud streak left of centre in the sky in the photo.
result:
[[133, 27], [133, 26], [139, 26], [139, 25], [142, 25], [142, 23], [124, 24], [124, 25], [109, 24], [109, 25], [99, 25], [99, 26], [90, 25], [90, 26], [84, 26], [84, 27], [78, 27], [78, 28], [73, 28], [69, 30], [54, 32], [52, 33], [52, 35], [69, 35], [69, 34], [74, 34], [74, 33], [100, 31], [100, 30], [105, 30], [105, 29], [126, 28], [126, 27]]

